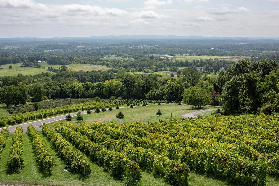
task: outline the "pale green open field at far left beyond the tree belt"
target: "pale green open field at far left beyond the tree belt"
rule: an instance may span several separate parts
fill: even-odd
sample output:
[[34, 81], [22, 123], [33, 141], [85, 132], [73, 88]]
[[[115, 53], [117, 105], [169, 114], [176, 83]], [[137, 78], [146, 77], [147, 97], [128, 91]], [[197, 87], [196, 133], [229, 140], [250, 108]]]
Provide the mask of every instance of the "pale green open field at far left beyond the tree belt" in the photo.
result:
[[[38, 73], [46, 73], [48, 67], [53, 67], [55, 69], [59, 69], [61, 65], [59, 64], [47, 64], [47, 63], [41, 63], [40, 68], [35, 67], [20, 67], [22, 63], [17, 64], [11, 64], [12, 68], [9, 69], [10, 64], [4, 64], [2, 65], [3, 69], [0, 70], [0, 76], [16, 76], [19, 73], [22, 73], [23, 75], [34, 75]], [[66, 65], [68, 68], [71, 68], [75, 71], [84, 70], [84, 71], [91, 71], [91, 70], [108, 70], [109, 68], [101, 65], [89, 65], [89, 64], [69, 64]]]

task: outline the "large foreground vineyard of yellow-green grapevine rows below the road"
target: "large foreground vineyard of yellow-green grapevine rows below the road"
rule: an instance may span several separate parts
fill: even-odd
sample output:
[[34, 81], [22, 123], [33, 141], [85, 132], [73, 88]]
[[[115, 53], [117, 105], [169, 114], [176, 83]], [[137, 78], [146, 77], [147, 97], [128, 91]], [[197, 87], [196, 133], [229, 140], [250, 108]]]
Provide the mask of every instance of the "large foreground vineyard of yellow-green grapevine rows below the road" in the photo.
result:
[[[17, 127], [5, 168], [10, 174], [24, 172], [27, 165], [23, 135]], [[102, 167], [106, 179], [126, 185], [146, 185], [149, 173], [169, 185], [197, 185], [190, 179], [193, 171], [233, 185], [270, 185], [267, 180], [271, 179], [273, 185], [279, 184], [278, 116], [218, 114], [148, 123], [81, 122], [80, 126], [67, 122], [54, 129], [44, 124], [42, 133], [29, 125], [28, 135], [31, 155], [46, 178], [55, 176], [61, 161], [71, 177], [78, 175], [76, 179], [85, 182], [96, 179], [94, 169]], [[8, 138], [9, 132], [3, 130], [0, 153]]]

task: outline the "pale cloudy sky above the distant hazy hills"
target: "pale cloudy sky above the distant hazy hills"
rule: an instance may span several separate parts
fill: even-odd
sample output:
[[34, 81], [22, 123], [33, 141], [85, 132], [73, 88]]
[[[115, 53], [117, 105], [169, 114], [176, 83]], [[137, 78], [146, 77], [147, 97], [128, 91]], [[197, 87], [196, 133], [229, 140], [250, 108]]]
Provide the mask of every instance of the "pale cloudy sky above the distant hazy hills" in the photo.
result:
[[0, 38], [278, 37], [279, 0], [0, 0]]

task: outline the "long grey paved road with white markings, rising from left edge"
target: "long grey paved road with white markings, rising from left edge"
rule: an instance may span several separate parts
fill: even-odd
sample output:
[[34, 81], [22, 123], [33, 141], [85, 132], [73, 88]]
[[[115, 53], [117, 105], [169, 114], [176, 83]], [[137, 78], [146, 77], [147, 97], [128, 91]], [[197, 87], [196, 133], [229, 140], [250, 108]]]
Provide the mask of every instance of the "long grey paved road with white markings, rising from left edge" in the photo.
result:
[[[151, 105], [146, 105], [146, 106], [151, 106]], [[134, 107], [141, 107], [141, 105], [134, 106]], [[128, 106], [128, 107], [119, 107], [119, 108], [130, 108], [130, 107]], [[113, 108], [113, 109], [115, 109], [115, 108]], [[108, 108], [106, 108], [106, 110], [108, 110]], [[95, 110], [92, 110], [92, 112], [95, 112]], [[81, 114], [86, 114], [86, 111], [81, 112]], [[37, 131], [42, 131], [42, 128], [40, 128], [40, 126], [43, 123], [51, 123], [51, 122], [60, 121], [60, 120], [65, 119], [67, 115], [68, 114], [64, 114], [64, 115], [61, 115], [61, 116], [55, 116], [55, 117], [51, 117], [51, 118], [47, 118], [47, 119], [34, 121], [34, 122], [28, 122], [28, 123], [23, 123], [23, 124], [20, 124], [20, 125], [8, 126], [8, 127], [1, 128], [0, 131], [2, 131], [3, 129], [8, 129], [11, 132], [11, 134], [14, 134], [16, 127], [21, 126], [22, 129], [23, 129], [23, 133], [26, 133], [28, 125], [33, 125], [37, 129]], [[77, 112], [76, 113], [70, 113], [70, 115], [72, 117], [75, 117], [75, 116], [77, 116]]]

